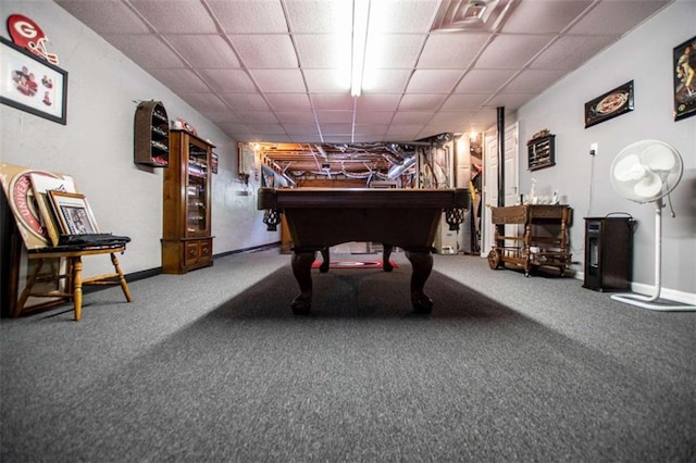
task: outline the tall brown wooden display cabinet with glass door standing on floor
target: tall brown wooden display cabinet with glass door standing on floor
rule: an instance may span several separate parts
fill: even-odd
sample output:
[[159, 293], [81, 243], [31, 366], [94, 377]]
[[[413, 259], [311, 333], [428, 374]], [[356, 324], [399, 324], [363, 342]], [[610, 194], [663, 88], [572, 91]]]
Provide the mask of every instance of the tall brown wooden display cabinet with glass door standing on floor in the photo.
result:
[[210, 142], [171, 130], [164, 171], [162, 272], [184, 274], [213, 264], [210, 208]]

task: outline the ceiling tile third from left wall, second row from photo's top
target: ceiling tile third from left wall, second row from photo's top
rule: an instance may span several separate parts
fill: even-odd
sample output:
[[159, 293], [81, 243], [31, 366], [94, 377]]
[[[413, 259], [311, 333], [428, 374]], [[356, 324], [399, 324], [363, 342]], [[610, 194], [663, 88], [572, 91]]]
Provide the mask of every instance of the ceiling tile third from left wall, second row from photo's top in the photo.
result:
[[297, 68], [299, 66], [288, 35], [233, 35], [232, 43], [250, 68]]

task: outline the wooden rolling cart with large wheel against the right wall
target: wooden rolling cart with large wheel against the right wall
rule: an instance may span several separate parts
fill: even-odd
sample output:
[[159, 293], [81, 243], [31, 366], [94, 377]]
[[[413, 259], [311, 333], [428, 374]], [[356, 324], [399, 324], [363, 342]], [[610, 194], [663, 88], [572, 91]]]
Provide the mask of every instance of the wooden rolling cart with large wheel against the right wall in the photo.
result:
[[[524, 204], [492, 208], [496, 225], [495, 243], [488, 253], [490, 268], [506, 263], [524, 268], [524, 276], [536, 267], [558, 267], [561, 276], [570, 265], [568, 228], [572, 209], [568, 205]], [[523, 225], [522, 235], [506, 235], [506, 225]]]

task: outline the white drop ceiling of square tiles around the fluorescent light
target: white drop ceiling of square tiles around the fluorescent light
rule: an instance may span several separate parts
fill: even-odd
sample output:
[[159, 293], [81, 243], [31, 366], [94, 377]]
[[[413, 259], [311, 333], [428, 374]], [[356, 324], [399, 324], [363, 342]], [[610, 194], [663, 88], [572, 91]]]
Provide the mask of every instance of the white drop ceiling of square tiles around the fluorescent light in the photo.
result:
[[671, 0], [372, 0], [357, 98], [351, 0], [55, 2], [233, 139], [304, 151], [482, 132]]

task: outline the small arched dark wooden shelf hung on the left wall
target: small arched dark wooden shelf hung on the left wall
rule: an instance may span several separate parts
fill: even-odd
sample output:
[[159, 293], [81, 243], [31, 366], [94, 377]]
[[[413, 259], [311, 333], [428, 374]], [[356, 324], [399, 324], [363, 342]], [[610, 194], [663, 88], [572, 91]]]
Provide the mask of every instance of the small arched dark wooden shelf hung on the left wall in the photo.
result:
[[144, 101], [135, 111], [133, 160], [136, 164], [170, 164], [170, 121], [160, 101]]

